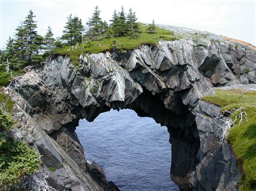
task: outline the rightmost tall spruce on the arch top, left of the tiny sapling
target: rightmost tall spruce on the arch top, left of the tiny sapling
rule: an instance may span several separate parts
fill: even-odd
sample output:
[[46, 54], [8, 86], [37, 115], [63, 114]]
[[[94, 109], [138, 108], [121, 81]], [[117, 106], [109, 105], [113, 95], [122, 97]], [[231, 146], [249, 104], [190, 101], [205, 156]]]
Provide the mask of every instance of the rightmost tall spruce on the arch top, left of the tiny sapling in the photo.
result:
[[131, 38], [137, 38], [139, 36], [139, 25], [137, 23], [136, 13], [129, 9], [129, 14], [127, 15], [127, 27], [128, 27], [128, 36]]

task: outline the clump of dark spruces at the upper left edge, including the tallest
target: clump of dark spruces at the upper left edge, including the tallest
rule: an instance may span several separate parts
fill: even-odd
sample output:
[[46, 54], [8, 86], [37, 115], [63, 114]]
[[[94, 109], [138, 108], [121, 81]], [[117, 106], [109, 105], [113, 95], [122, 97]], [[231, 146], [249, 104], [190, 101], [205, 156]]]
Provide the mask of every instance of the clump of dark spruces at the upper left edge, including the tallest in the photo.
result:
[[[37, 34], [36, 21], [30, 10], [24, 22], [16, 29], [15, 38], [9, 37], [6, 49], [0, 50], [0, 73], [21, 72], [24, 67], [35, 65], [43, 60], [44, 38]], [[10, 75], [9, 75], [10, 76]], [[5, 85], [10, 77], [3, 76], [0, 86]]]

